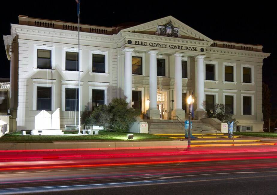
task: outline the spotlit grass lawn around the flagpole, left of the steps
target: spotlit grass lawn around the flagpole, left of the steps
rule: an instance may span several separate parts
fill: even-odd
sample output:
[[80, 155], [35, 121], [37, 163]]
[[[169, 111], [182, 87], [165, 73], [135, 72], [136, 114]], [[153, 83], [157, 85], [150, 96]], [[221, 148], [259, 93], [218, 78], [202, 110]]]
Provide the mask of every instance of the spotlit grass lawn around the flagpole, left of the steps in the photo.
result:
[[83, 135], [74, 136], [77, 132], [64, 132], [64, 134], [71, 135], [25, 135], [22, 136], [21, 132], [15, 132], [4, 135], [0, 138], [0, 142], [52, 142], [52, 141], [170, 141], [172, 138], [156, 136], [147, 133], [132, 133], [134, 134], [133, 140], [127, 140], [127, 134], [130, 133], [117, 133], [108, 131], [99, 131], [99, 135]]

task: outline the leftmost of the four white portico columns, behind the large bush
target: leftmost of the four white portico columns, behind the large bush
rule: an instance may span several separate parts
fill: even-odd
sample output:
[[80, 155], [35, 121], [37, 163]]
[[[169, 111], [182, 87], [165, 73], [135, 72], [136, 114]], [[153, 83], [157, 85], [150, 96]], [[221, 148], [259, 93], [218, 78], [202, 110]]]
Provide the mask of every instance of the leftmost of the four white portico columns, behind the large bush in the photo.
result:
[[124, 64], [124, 95], [128, 107], [132, 108], [132, 51], [133, 48], [125, 48], [125, 64]]

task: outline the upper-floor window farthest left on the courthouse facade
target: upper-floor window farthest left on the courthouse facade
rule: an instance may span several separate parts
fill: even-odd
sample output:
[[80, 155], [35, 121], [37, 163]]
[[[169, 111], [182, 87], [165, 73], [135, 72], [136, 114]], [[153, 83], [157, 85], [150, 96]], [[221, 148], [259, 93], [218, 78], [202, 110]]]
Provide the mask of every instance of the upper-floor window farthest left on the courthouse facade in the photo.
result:
[[51, 50], [37, 49], [37, 68], [51, 69]]

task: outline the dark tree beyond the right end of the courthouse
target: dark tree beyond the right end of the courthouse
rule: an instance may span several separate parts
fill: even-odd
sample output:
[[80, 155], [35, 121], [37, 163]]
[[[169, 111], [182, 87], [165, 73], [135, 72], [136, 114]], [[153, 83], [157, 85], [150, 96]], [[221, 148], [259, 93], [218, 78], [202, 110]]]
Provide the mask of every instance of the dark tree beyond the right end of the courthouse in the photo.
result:
[[263, 82], [263, 113], [264, 113], [264, 128], [268, 127], [268, 119], [271, 117], [271, 91], [268, 85]]

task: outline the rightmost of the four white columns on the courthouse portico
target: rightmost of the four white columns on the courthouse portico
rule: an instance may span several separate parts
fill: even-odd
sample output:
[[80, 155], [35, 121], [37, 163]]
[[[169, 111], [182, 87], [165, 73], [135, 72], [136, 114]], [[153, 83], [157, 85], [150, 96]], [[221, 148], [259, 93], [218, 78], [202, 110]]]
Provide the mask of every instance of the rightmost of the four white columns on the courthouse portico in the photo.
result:
[[198, 55], [195, 57], [197, 61], [196, 110], [204, 110], [204, 57], [204, 55]]

